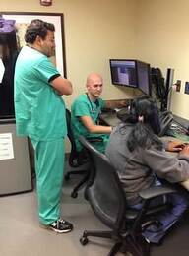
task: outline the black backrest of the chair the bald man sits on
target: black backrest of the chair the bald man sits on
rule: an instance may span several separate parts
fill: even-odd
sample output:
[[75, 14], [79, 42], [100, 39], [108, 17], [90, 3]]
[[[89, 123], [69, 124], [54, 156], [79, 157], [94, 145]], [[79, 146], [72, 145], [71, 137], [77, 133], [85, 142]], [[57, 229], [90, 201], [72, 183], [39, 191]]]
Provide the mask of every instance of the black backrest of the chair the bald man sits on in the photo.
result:
[[71, 153], [70, 153], [70, 157], [69, 157], [69, 164], [72, 167], [78, 167], [83, 164], [83, 160], [76, 149], [76, 143], [74, 140], [74, 135], [72, 132], [72, 125], [71, 125], [71, 112], [69, 109], [66, 109], [66, 122], [67, 122], [68, 138], [71, 143]]

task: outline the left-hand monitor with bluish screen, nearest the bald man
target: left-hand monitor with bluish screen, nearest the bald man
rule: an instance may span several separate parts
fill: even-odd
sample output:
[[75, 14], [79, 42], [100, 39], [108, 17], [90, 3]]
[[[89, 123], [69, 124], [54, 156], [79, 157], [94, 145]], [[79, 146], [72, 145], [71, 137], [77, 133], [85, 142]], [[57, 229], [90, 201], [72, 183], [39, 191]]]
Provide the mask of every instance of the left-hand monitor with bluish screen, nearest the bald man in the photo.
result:
[[110, 59], [109, 62], [113, 85], [137, 87], [135, 60]]

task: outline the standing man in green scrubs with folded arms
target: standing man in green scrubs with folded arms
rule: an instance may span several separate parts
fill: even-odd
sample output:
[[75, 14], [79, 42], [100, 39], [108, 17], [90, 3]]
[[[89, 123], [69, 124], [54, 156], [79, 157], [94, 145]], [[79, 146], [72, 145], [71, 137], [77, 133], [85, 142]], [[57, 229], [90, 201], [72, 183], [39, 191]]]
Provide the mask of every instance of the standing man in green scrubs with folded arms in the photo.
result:
[[32, 20], [15, 69], [15, 111], [19, 136], [29, 136], [34, 148], [39, 222], [64, 233], [73, 225], [61, 219], [60, 202], [67, 135], [63, 95], [72, 84], [48, 59], [54, 55], [54, 25]]

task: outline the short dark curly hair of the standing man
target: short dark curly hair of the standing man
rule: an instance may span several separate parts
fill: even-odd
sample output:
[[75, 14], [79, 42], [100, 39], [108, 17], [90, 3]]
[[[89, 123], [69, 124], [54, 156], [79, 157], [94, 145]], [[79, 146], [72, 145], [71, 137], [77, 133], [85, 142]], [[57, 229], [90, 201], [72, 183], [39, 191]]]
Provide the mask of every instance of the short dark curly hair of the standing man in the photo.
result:
[[44, 39], [47, 35], [47, 31], [54, 32], [54, 25], [51, 23], [43, 22], [39, 19], [32, 20], [25, 33], [25, 41], [28, 43], [33, 43], [37, 35]]

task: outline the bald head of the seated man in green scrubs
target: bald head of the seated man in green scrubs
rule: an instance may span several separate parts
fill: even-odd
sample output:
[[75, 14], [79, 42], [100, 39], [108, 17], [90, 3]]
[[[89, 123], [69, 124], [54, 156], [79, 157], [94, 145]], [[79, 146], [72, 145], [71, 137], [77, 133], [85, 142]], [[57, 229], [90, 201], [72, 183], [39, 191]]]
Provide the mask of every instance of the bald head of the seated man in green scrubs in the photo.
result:
[[98, 98], [102, 93], [103, 80], [102, 77], [96, 73], [92, 73], [87, 77], [86, 87], [88, 95], [92, 100]]

